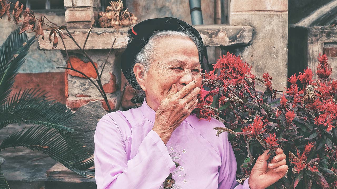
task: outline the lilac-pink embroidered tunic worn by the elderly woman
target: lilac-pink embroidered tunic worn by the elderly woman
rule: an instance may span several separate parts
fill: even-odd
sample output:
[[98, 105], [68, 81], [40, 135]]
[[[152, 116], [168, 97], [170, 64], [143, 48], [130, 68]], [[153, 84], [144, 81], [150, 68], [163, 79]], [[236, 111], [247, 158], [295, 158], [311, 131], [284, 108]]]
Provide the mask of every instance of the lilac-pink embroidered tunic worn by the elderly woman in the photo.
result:
[[188, 116], [165, 144], [152, 129], [153, 111], [104, 115], [95, 131], [97, 189], [249, 189], [236, 181], [236, 159], [219, 121]]

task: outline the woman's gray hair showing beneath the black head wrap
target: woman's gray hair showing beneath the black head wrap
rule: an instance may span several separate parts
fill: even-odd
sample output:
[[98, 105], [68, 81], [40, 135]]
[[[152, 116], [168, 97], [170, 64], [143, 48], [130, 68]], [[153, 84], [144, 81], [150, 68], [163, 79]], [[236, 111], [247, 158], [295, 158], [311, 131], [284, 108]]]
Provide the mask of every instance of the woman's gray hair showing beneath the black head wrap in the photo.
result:
[[[129, 36], [131, 37], [131, 36]], [[196, 48], [198, 49], [199, 57], [201, 54], [203, 54], [203, 46], [201, 43], [201, 40], [192, 35], [190, 30], [182, 30], [182, 31], [173, 31], [173, 30], [165, 30], [165, 31], [155, 31], [153, 35], [149, 38], [148, 43], [142, 48], [142, 50], [136, 55], [132, 66], [131, 66], [131, 75], [134, 76], [133, 73], [133, 67], [136, 63], [140, 63], [144, 66], [144, 72], [143, 74], [147, 73], [150, 69], [150, 65], [154, 60], [155, 50], [156, 50], [156, 44], [160, 39], [163, 39], [165, 37], [179, 37], [179, 38], [185, 38], [185, 39], [191, 39], [194, 44], [196, 45]], [[130, 40], [131, 42], [131, 40]], [[134, 83], [132, 83], [139, 88], [139, 90], [136, 89], [136, 92], [138, 93], [139, 97], [145, 97], [145, 92], [141, 89], [139, 83], [135, 80]], [[130, 83], [130, 85], [132, 86]]]

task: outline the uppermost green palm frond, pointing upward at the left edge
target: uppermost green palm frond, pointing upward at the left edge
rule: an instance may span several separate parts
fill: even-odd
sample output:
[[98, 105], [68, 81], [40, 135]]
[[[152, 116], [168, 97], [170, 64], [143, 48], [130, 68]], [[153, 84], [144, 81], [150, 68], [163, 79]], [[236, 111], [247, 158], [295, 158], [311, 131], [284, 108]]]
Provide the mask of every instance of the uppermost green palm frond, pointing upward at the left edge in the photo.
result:
[[34, 38], [14, 30], [0, 47], [0, 105], [6, 102], [20, 67], [25, 62], [29, 47]]

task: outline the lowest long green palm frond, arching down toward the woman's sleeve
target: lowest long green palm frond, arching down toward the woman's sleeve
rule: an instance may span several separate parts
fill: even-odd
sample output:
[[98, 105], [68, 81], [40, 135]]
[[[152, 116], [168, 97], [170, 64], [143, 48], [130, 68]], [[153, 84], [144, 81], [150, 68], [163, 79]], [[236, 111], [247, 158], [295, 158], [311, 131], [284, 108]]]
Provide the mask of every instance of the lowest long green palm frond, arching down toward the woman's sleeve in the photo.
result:
[[94, 177], [94, 171], [88, 170], [94, 165], [91, 153], [83, 147], [69, 147], [56, 129], [43, 125], [32, 126], [26, 131], [22, 129], [4, 139], [0, 150], [18, 146], [42, 151], [75, 173], [84, 177]]

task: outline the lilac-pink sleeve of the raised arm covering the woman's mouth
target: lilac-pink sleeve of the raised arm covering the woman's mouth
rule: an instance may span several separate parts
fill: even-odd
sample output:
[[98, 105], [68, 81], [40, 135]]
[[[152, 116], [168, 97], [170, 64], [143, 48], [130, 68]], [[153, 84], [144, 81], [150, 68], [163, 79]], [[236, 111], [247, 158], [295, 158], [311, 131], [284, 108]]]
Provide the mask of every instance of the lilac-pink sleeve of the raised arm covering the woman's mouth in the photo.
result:
[[[123, 128], [129, 129], [130, 125], [125, 124]], [[111, 114], [97, 123], [94, 136], [97, 189], [158, 189], [175, 168], [163, 141], [151, 130], [128, 161], [123, 128]]]

